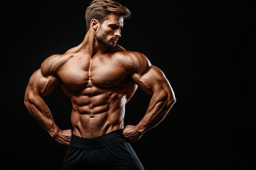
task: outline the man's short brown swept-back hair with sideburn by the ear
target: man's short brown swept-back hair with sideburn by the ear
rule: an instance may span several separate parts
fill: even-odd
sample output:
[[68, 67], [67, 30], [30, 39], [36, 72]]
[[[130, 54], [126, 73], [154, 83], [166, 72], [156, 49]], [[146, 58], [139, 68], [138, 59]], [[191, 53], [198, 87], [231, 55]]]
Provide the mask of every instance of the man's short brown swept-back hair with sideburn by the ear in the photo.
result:
[[93, 0], [85, 12], [87, 31], [90, 28], [92, 18], [98, 20], [101, 24], [108, 18], [108, 14], [110, 13], [122, 16], [124, 19], [129, 19], [131, 15], [131, 12], [127, 7], [122, 6], [113, 0]]

